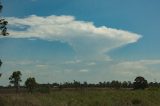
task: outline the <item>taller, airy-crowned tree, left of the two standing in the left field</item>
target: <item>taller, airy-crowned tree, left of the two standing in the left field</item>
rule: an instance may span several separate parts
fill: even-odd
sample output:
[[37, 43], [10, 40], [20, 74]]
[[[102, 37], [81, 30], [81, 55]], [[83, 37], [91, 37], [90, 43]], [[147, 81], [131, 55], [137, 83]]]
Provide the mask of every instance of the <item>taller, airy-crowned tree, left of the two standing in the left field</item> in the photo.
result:
[[14, 85], [16, 88], [16, 92], [19, 90], [20, 82], [21, 80], [21, 72], [20, 71], [15, 71], [12, 73], [12, 75], [9, 77], [10, 83]]

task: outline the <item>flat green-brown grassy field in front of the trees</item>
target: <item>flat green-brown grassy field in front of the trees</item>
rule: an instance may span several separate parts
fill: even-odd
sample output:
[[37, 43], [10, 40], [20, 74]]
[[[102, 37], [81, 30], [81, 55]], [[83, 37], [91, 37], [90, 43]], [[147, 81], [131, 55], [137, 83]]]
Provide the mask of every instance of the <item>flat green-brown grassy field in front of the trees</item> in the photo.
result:
[[160, 106], [160, 90], [62, 89], [1, 93], [0, 106]]

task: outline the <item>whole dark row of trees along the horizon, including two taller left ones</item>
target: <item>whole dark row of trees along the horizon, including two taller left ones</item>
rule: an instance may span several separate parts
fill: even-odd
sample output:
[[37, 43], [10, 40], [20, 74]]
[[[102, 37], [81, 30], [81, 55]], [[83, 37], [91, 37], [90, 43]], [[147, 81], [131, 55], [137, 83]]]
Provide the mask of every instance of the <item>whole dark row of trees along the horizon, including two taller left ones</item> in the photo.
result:
[[118, 80], [113, 80], [111, 82], [99, 82], [97, 84], [95, 83], [88, 83], [88, 82], [80, 82], [74, 80], [73, 82], [64, 82], [64, 83], [52, 83], [52, 84], [38, 84], [36, 82], [36, 78], [34, 77], [29, 77], [26, 79], [24, 85], [20, 86], [20, 82], [22, 81], [21, 79], [22, 73], [21, 71], [14, 71], [10, 77], [9, 77], [9, 82], [10, 86], [8, 88], [15, 88], [16, 92], [19, 91], [20, 88], [26, 88], [26, 90], [29, 93], [32, 93], [35, 89], [39, 88], [46, 88], [46, 89], [65, 89], [65, 88], [75, 88], [75, 89], [83, 89], [83, 88], [112, 88], [112, 89], [146, 89], [149, 87], [160, 87], [160, 83], [158, 82], [150, 82], [148, 83], [147, 80], [142, 77], [138, 76], [134, 79], [134, 82], [131, 81], [118, 81]]

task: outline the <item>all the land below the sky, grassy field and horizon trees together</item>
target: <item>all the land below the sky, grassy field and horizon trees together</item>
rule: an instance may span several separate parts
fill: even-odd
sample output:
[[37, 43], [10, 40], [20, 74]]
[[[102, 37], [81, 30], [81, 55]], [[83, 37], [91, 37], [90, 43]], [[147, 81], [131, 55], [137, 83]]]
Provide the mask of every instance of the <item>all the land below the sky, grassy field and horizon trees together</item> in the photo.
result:
[[38, 84], [34, 77], [20, 86], [21, 72], [9, 77], [13, 86], [0, 87], [0, 106], [160, 106], [160, 83], [141, 76], [130, 81], [91, 84], [64, 82]]

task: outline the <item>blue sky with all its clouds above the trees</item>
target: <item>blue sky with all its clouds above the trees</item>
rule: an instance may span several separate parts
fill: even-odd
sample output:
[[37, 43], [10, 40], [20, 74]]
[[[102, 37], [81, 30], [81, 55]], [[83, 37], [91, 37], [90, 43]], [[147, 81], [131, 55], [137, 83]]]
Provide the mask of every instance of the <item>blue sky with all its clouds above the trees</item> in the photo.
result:
[[1, 1], [0, 85], [17, 70], [23, 82], [160, 81], [159, 0]]

